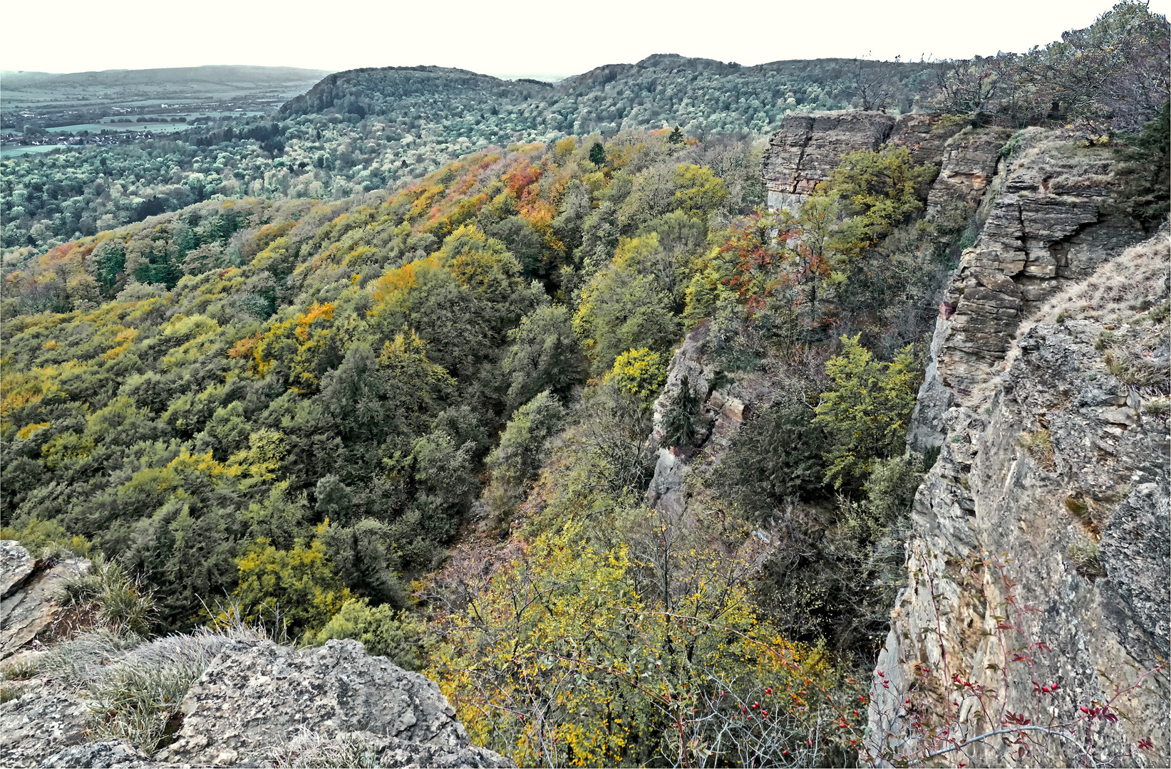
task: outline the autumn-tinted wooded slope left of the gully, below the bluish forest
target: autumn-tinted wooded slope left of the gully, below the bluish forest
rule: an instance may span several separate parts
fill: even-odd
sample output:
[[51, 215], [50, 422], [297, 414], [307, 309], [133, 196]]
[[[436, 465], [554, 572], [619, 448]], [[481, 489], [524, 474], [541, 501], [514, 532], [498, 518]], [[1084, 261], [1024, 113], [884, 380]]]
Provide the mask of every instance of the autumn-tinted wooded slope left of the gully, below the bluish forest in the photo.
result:
[[597, 296], [628, 243], [643, 263], [615, 279], [639, 291], [576, 321], [600, 349], [666, 352], [708, 222], [759, 201], [744, 144], [628, 136], [596, 165], [595, 146], [473, 155], [371, 200], [204, 204], [11, 273], [5, 315], [42, 311], [6, 327], [6, 521], [122, 552], [182, 625], [258, 537], [260, 564], [316, 563], [294, 541], [328, 517], [337, 543], [385, 542], [354, 555], [337, 600], [402, 604], [395, 575], [452, 540], [501, 418], [587, 375], [549, 290]]

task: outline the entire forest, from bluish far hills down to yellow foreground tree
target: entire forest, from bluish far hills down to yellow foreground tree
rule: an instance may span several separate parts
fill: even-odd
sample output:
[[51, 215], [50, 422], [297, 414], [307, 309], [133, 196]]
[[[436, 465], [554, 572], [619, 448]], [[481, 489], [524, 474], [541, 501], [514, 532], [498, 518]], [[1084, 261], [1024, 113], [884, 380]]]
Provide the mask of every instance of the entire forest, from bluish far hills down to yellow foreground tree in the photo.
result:
[[[1095, 70], [1132, 74], [1128, 109], [1067, 84], [1078, 50], [1034, 52], [1027, 94], [997, 60], [899, 71], [972, 130], [1076, 121], [1070, 151], [1125, 160], [1155, 228], [1169, 117], [1142, 89], [1166, 82], [1166, 20], [1124, 2], [1054, 47], [1136, 28], [1145, 59]], [[356, 70], [271, 123], [5, 162], [0, 536], [132, 575], [145, 609], [102, 610], [125, 632], [356, 638], [519, 765], [856, 762], [934, 461], [906, 428], [982, 214], [929, 221], [937, 170], [895, 147], [767, 211], [775, 95], [861, 98], [809, 70], [799, 101], [793, 71]], [[458, 83], [467, 103], [436, 96]], [[689, 516], [648, 492], [660, 446], [712, 430], [686, 384], [660, 399], [693, 332], [774, 397]]]

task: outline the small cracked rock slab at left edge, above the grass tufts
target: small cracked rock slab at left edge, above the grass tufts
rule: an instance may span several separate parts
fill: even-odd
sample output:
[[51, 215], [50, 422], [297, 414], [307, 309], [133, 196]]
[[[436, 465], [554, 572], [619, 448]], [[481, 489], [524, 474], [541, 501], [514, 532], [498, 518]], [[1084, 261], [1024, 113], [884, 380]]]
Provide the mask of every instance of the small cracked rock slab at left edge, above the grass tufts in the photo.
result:
[[89, 570], [89, 561], [34, 561], [11, 540], [0, 541], [0, 659], [33, 640], [57, 614], [53, 597], [61, 584]]

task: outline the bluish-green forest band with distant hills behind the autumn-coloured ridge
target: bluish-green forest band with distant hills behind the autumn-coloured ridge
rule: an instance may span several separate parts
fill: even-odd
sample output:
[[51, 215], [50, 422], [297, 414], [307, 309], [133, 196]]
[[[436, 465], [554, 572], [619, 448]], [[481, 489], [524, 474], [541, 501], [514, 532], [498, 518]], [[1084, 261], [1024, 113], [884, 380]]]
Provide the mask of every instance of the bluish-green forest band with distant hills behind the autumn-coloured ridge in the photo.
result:
[[[338, 73], [267, 119], [224, 118], [174, 139], [5, 162], [2, 245], [43, 250], [211, 198], [337, 200], [493, 144], [664, 125], [760, 136], [792, 110], [849, 107], [868, 67], [888, 64], [651, 56], [559, 87], [443, 67]], [[908, 108], [927, 70], [891, 67], [892, 94]]]

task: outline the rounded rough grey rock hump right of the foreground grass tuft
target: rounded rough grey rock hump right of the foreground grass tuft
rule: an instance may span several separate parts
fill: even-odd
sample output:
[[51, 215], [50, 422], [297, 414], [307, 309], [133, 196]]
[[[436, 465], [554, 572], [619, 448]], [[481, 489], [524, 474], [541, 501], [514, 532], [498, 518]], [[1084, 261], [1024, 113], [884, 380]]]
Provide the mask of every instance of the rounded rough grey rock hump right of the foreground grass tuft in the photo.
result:
[[235, 641], [191, 687], [180, 713], [178, 739], [158, 761], [235, 763], [306, 727], [326, 736], [390, 739], [405, 756], [406, 763], [396, 765], [408, 765], [410, 756], [420, 765], [509, 765], [494, 753], [470, 747], [433, 681], [368, 657], [354, 640], [303, 652], [272, 641]]

